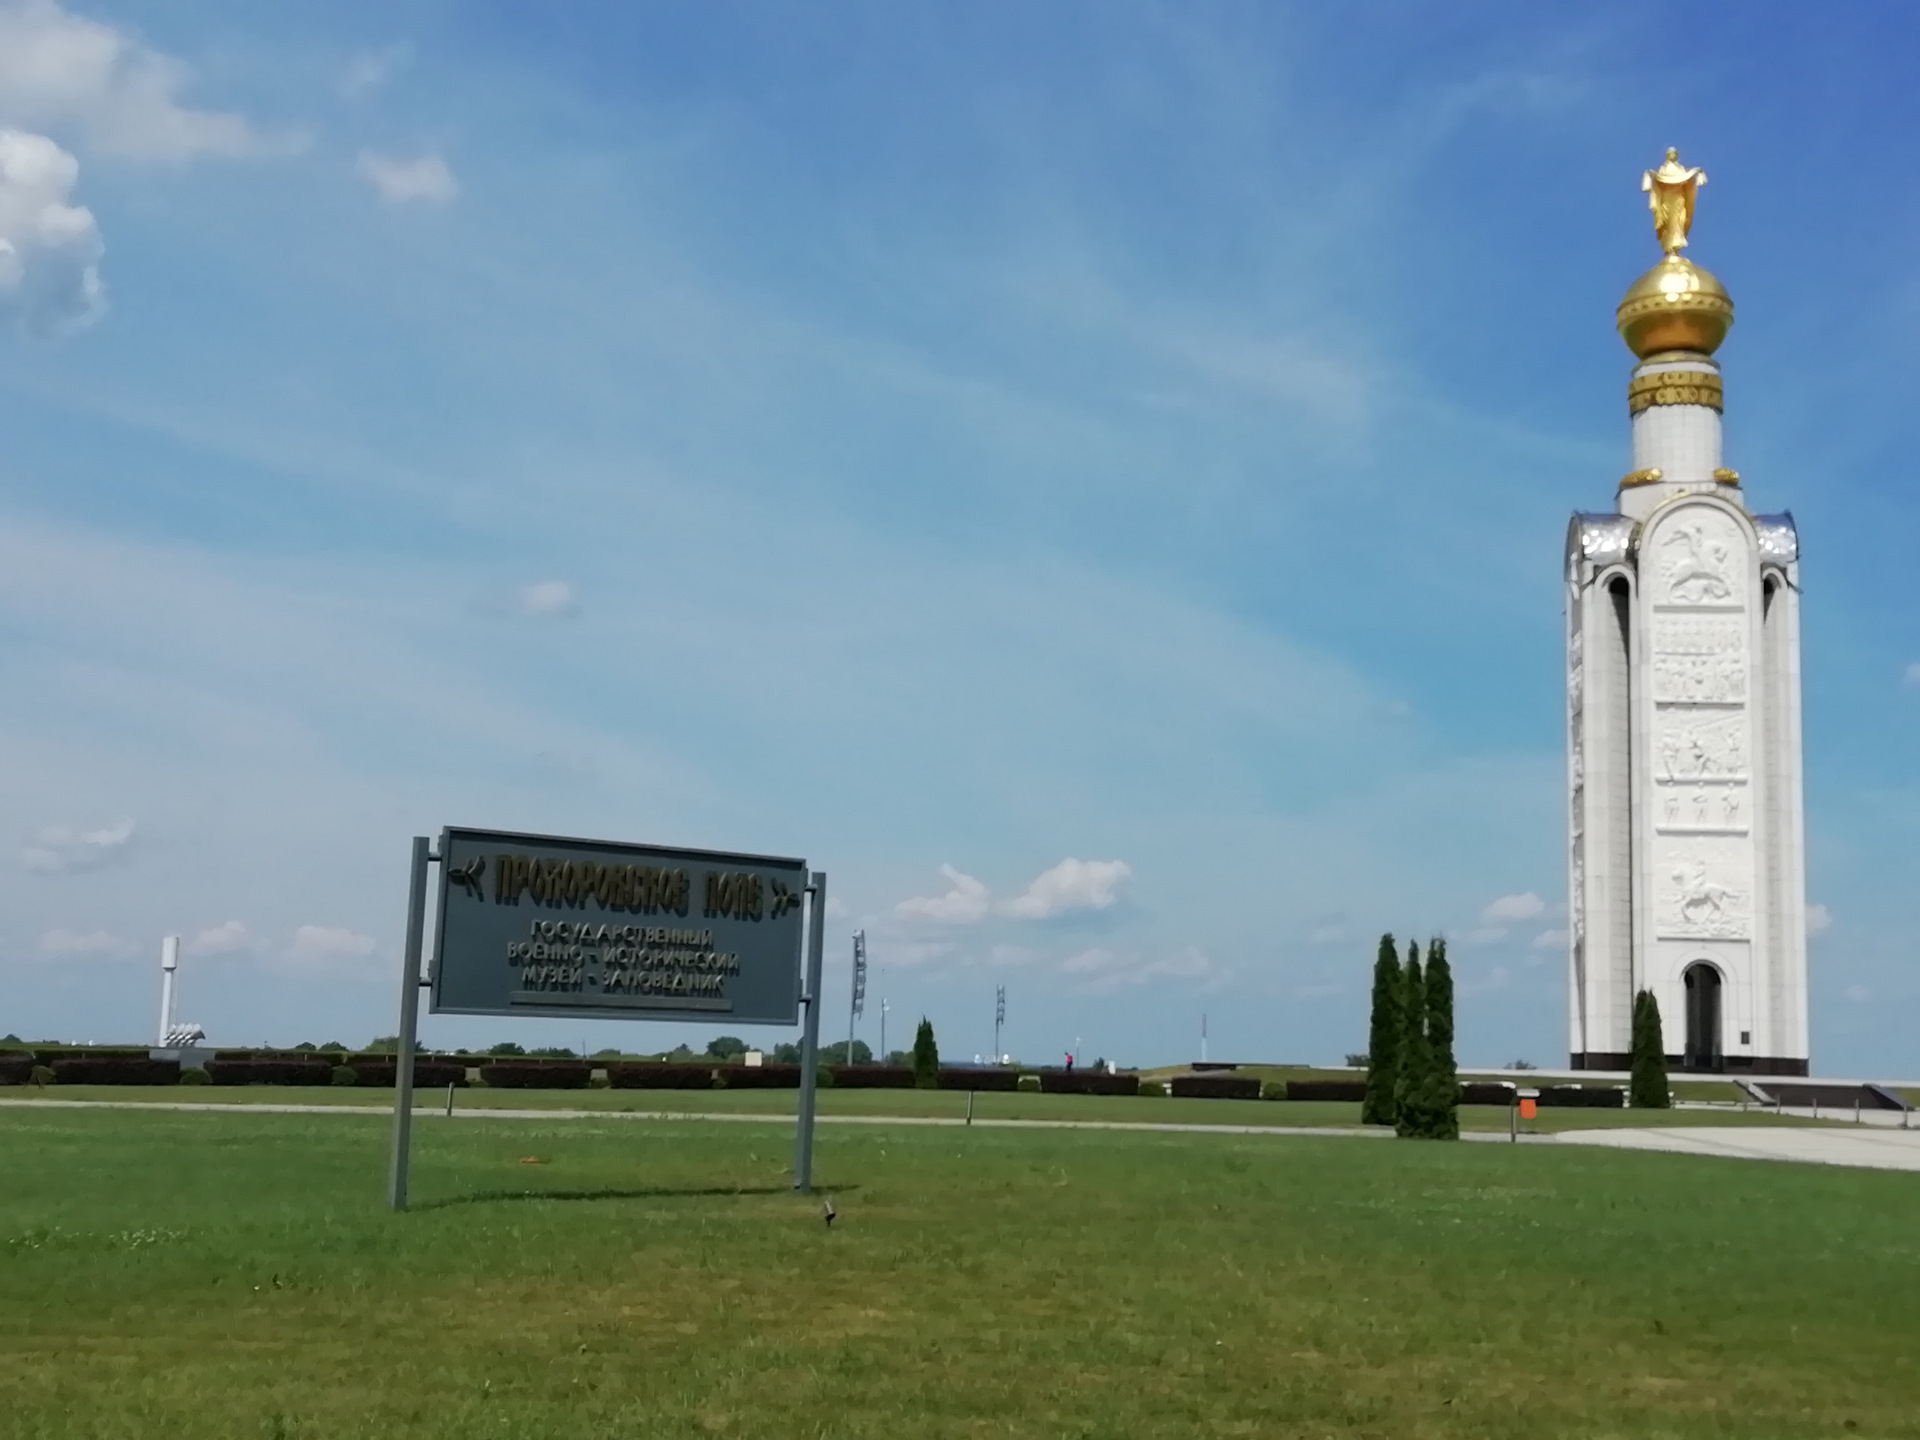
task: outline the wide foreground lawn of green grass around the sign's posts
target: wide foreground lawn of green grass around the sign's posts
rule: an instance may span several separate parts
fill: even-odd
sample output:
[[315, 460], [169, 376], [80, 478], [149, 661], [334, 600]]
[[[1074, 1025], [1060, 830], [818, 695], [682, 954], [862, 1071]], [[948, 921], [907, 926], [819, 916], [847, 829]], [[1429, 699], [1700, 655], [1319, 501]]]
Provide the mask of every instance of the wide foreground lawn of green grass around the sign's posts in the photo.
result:
[[[0, 1110], [0, 1434], [1920, 1436], [1912, 1175]], [[538, 1160], [541, 1164], [526, 1164]]]

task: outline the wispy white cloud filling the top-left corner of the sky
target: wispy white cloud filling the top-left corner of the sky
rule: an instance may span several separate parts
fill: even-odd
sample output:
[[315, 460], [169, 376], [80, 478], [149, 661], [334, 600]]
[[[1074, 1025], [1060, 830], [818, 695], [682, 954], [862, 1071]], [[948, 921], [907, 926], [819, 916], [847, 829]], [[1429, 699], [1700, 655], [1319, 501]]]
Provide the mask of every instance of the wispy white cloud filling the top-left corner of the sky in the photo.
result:
[[0, 123], [75, 127], [102, 152], [192, 159], [286, 150], [242, 115], [188, 109], [190, 71], [56, 0], [0, 0]]

